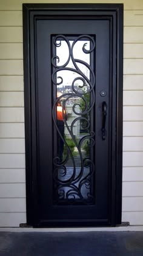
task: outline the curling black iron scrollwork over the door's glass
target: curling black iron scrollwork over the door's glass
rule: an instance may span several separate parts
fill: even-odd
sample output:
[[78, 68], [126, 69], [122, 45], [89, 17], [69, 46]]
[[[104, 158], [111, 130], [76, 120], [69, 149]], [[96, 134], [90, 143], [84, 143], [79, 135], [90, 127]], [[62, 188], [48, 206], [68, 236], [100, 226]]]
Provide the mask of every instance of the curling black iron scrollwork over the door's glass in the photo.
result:
[[[77, 77], [73, 79], [71, 83], [70, 92], [66, 92], [55, 99], [53, 102], [52, 117], [53, 123], [56, 129], [56, 134], [60, 137], [64, 144], [65, 156], [64, 159], [60, 159], [58, 154], [53, 158], [53, 190], [54, 190], [54, 202], [55, 204], [93, 204], [95, 202], [95, 189], [93, 188], [93, 177], [95, 175], [95, 163], [93, 161], [93, 152], [95, 146], [95, 131], [91, 130], [90, 113], [95, 106], [95, 73], [93, 67], [84, 60], [74, 58], [73, 49], [78, 41], [90, 41], [90, 49], [86, 49], [87, 43], [82, 45], [82, 51], [84, 54], [91, 54], [95, 50], [95, 39], [90, 35], [77, 36], [70, 44], [69, 37], [65, 35], [56, 35], [53, 38], [53, 47], [60, 47], [61, 42], [64, 41], [68, 46], [68, 57], [64, 64], [58, 66], [59, 57], [53, 55], [52, 57], [52, 83], [53, 86], [59, 86], [63, 83], [63, 78], [59, 76], [61, 71], [75, 72]], [[69, 67], [69, 62], [72, 61], [72, 67]], [[79, 68], [79, 64], [87, 67], [90, 77], [84, 74], [82, 69]], [[77, 86], [77, 82], [80, 81], [80, 85]], [[81, 85], [82, 83], [82, 85]], [[76, 84], [76, 85], [75, 85]], [[87, 101], [85, 95], [90, 95], [90, 102]], [[68, 126], [66, 117], [66, 108], [69, 100], [73, 101], [72, 111], [76, 118], [71, 122], [71, 126]], [[77, 100], [78, 99], [78, 100]], [[80, 100], [84, 104], [84, 108], [81, 109]], [[57, 105], [62, 101], [62, 116], [64, 120], [64, 127], [67, 129], [70, 138], [75, 144], [76, 151], [79, 154], [80, 167], [76, 167], [75, 156], [68, 145], [67, 140], [61, 133], [57, 123]], [[78, 111], [77, 111], [78, 108]], [[88, 131], [86, 136], [82, 136], [79, 140], [74, 135], [74, 125], [77, 122], [82, 123], [82, 129]], [[83, 125], [84, 123], [84, 125]], [[83, 156], [82, 145], [88, 145], [90, 149], [90, 156]], [[72, 166], [67, 167], [67, 162], [72, 163]], [[94, 190], [94, 191], [93, 191]]]

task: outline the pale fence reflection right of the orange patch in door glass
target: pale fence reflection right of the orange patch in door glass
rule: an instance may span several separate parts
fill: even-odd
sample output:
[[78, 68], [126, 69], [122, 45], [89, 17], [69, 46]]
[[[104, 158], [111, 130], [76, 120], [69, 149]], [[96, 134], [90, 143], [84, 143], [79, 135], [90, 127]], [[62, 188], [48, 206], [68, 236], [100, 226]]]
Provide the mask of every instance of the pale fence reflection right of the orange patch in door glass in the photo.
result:
[[[79, 111], [79, 106], [76, 106], [75, 110], [76, 110], [76, 112], [80, 112]], [[66, 106], [66, 112], [67, 112], [67, 125], [68, 125], [69, 128], [71, 128], [71, 123], [73, 122], [73, 120], [75, 120], [79, 116], [76, 115], [73, 112], [73, 105], [67, 105]], [[79, 120], [77, 122], [75, 122], [75, 124], [73, 125], [73, 134], [78, 138], [80, 136], [80, 122], [79, 122]], [[66, 127], [65, 127], [65, 136], [70, 137], [70, 134], [68, 133], [68, 130], [67, 130]]]

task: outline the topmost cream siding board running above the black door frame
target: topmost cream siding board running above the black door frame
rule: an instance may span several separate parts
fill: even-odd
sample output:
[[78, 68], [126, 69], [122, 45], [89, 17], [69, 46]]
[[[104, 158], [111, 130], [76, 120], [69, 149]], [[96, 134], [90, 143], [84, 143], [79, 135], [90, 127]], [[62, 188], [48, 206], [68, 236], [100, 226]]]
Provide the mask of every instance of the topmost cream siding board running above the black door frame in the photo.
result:
[[[7, 1], [1, 1], [0, 2], [0, 9], [1, 10], [22, 10], [22, 2], [27, 3], [35, 3], [35, 0], [7, 0]], [[42, 3], [58, 3], [59, 4], [59, 0], [42, 0]], [[99, 0], [68, 0], [68, 3], [98, 3], [99, 4]], [[100, 3], [124, 3], [124, 9], [143, 9], [143, 2], [142, 0], [114, 0], [114, 1], [110, 1], [110, 0], [100, 0]], [[64, 3], [65, 4], [65, 0], [61, 0], [60, 3]]]

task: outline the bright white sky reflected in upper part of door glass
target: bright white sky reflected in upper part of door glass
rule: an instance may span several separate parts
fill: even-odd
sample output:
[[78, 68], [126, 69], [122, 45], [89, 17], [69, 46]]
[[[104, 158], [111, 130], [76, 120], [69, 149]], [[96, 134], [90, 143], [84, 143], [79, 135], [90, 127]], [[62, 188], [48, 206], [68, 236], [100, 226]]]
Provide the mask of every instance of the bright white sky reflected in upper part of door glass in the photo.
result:
[[[59, 41], [56, 41], [57, 43], [59, 43]], [[70, 41], [70, 44], [72, 44], [73, 41]], [[87, 45], [85, 46], [85, 49], [89, 50], [90, 49], [90, 41], [77, 41], [75, 46], [73, 47], [73, 57], [79, 60], [83, 60], [86, 63], [90, 64], [90, 54], [85, 54], [82, 50], [82, 46], [87, 43]], [[67, 59], [68, 59], [68, 46], [67, 43], [65, 41], [61, 41], [61, 46], [60, 47], [56, 47], [56, 55], [59, 57], [59, 63], [57, 62], [56, 64], [58, 66], [63, 65]], [[84, 64], [81, 63], [76, 63], [77, 66], [79, 67], [79, 69], [81, 69], [81, 71], [86, 75], [86, 77], [89, 79], [90, 78], [90, 71], [89, 69], [84, 66]], [[75, 66], [73, 65], [73, 62], [69, 61], [67, 67], [71, 67], [73, 69], [75, 69]], [[63, 83], [61, 85], [58, 86], [58, 88], [62, 87], [63, 85], [71, 85], [72, 81], [76, 78], [76, 77], [81, 77], [81, 75], [77, 74], [76, 72], [72, 72], [72, 71], [59, 71], [57, 72], [57, 77], [61, 76], [63, 78]], [[57, 80], [58, 81], [58, 80]], [[82, 85], [82, 81], [77, 80], [75, 82], [75, 85]]]

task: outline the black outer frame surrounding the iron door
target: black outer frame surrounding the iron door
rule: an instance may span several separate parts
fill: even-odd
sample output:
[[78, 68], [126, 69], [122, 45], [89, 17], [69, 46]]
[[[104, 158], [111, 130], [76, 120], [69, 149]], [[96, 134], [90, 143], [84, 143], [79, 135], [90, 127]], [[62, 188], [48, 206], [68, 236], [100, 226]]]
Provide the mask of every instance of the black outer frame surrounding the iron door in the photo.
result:
[[[116, 61], [116, 70], [111, 71], [111, 81], [115, 81], [113, 91], [116, 95], [112, 111], [116, 118], [113, 122], [113, 139], [111, 147], [115, 150], [111, 154], [111, 210], [110, 226], [121, 224], [122, 212], [122, 91], [123, 91], [123, 4], [23, 4], [23, 46], [24, 46], [24, 111], [25, 111], [25, 168], [26, 168], [26, 204], [27, 224], [38, 226], [38, 176], [36, 159], [36, 138], [38, 136], [33, 120], [36, 112], [32, 105], [36, 99], [32, 91], [35, 85], [35, 47], [32, 47], [35, 35], [35, 21], [39, 15], [50, 16], [53, 12], [56, 17], [62, 18], [63, 12], [88, 15], [91, 19], [108, 19], [113, 26], [113, 40], [116, 47], [112, 49], [113, 61]], [[35, 42], [36, 44], [36, 42]], [[115, 60], [116, 59], [116, 60]], [[115, 105], [114, 105], [115, 104]], [[115, 112], [116, 111], [116, 112]], [[65, 224], [65, 226], [68, 224]], [[89, 226], [89, 224], [88, 224]]]

